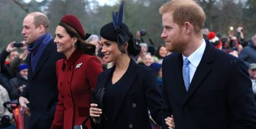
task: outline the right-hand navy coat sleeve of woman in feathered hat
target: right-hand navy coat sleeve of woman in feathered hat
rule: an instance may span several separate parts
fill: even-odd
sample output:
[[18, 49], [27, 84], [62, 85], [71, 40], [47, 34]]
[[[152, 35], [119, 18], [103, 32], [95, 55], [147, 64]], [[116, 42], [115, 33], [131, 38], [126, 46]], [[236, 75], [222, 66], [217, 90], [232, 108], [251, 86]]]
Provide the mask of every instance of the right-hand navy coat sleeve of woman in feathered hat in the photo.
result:
[[152, 118], [159, 125], [161, 123], [161, 114], [162, 114], [162, 95], [160, 94], [157, 87], [159, 87], [157, 83], [157, 74], [153, 71], [153, 69], [149, 69], [148, 72], [144, 75], [144, 93], [146, 96], [147, 105], [149, 106], [149, 111], [151, 112]]

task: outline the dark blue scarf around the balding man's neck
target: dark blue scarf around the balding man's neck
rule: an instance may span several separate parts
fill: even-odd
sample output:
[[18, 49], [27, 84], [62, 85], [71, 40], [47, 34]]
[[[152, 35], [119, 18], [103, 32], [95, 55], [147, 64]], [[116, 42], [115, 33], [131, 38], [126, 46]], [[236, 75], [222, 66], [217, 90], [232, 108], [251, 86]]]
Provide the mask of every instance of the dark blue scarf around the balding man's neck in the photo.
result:
[[41, 55], [44, 52], [44, 49], [46, 49], [47, 45], [52, 41], [52, 36], [49, 33], [46, 33], [42, 36], [40, 36], [36, 42], [34, 42], [31, 45], [28, 45], [28, 51], [31, 53], [31, 68], [33, 72], [35, 71], [36, 65], [38, 64], [39, 59], [41, 58]]

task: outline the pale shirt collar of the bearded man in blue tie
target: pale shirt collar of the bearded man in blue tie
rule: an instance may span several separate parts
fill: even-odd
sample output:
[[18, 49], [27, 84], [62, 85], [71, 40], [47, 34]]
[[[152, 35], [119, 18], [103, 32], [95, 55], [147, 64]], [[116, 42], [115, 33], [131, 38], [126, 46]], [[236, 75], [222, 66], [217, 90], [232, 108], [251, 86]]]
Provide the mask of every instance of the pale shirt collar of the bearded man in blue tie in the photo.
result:
[[197, 66], [199, 65], [202, 57], [203, 57], [203, 54], [204, 54], [204, 50], [205, 50], [205, 47], [206, 47], [206, 42], [205, 40], [203, 39], [203, 42], [202, 44], [200, 45], [200, 47], [195, 51], [193, 52], [191, 55], [189, 55], [189, 57], [185, 57], [184, 55], [182, 55], [183, 57], [183, 61], [185, 60], [185, 58], [188, 58], [188, 60], [190, 61], [190, 63], [197, 68]]

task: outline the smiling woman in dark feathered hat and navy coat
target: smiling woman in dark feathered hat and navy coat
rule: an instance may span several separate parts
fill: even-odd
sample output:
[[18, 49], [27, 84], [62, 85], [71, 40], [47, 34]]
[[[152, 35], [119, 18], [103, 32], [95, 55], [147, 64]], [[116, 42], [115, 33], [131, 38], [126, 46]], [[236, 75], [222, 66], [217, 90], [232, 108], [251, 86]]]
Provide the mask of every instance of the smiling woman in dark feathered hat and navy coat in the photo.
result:
[[93, 128], [151, 128], [148, 110], [160, 123], [162, 95], [157, 90], [157, 75], [131, 59], [131, 55], [139, 54], [140, 47], [122, 23], [122, 13], [123, 2], [117, 14], [121, 17], [113, 14], [113, 22], [101, 28], [105, 61], [115, 65], [102, 72], [97, 81], [99, 103], [92, 103], [90, 108]]

